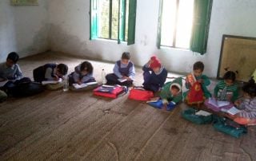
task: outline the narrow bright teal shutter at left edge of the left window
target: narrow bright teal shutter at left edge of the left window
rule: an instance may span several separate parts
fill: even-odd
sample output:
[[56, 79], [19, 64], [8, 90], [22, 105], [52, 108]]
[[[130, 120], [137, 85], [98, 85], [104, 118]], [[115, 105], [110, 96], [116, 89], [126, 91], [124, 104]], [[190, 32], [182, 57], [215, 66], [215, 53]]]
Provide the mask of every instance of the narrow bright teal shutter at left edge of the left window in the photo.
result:
[[97, 0], [90, 0], [90, 40], [98, 37]]

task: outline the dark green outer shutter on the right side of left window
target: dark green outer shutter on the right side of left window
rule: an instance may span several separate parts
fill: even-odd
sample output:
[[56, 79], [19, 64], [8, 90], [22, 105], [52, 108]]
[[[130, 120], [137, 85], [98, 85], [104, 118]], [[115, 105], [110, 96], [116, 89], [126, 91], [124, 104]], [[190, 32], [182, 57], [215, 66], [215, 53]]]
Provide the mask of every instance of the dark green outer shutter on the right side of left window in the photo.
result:
[[137, 0], [129, 2], [129, 18], [128, 18], [128, 41], [127, 45], [132, 45], [135, 42], [135, 24], [136, 24], [136, 6]]

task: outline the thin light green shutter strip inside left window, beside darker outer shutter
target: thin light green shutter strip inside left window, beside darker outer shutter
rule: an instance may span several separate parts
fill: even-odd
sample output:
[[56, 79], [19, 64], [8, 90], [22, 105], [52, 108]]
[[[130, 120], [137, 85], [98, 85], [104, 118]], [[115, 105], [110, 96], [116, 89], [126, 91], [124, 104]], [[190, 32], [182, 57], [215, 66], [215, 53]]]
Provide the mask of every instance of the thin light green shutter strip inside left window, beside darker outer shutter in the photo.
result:
[[125, 32], [125, 5], [126, 0], [119, 0], [119, 8], [118, 8], [118, 44], [121, 43], [121, 41], [124, 41], [124, 32]]

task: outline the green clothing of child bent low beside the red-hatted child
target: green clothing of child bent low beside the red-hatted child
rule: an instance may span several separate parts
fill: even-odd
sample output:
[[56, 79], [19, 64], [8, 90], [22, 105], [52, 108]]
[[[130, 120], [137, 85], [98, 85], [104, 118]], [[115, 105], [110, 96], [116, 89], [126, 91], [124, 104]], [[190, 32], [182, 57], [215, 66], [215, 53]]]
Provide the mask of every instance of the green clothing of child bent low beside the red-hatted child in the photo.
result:
[[[170, 87], [173, 84], [179, 84], [180, 85], [180, 91], [177, 96], [173, 96], [170, 93]], [[172, 101], [175, 104], [178, 104], [180, 101], [182, 101], [182, 78], [179, 77], [175, 79], [174, 81], [167, 82], [163, 85], [162, 91], [160, 92], [160, 97], [162, 100], [167, 100], [168, 102]]]

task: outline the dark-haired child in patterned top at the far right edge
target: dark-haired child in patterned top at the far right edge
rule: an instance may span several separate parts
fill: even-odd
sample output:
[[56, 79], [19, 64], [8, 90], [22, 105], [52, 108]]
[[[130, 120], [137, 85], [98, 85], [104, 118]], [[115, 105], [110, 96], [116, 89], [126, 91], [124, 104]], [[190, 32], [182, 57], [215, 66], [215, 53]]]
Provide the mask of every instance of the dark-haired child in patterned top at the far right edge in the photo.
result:
[[256, 124], [256, 84], [251, 79], [247, 84], [242, 87], [243, 98], [236, 100], [234, 104], [241, 112], [236, 114], [234, 121], [238, 124]]

